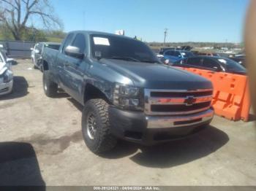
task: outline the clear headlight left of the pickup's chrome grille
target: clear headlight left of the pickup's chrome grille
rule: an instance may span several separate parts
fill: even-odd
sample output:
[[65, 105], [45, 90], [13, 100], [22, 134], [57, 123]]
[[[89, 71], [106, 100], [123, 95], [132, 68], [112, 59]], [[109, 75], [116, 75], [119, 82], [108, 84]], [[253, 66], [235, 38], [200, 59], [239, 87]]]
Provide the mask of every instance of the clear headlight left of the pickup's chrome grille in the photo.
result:
[[143, 110], [143, 95], [139, 87], [116, 84], [113, 104], [124, 109]]

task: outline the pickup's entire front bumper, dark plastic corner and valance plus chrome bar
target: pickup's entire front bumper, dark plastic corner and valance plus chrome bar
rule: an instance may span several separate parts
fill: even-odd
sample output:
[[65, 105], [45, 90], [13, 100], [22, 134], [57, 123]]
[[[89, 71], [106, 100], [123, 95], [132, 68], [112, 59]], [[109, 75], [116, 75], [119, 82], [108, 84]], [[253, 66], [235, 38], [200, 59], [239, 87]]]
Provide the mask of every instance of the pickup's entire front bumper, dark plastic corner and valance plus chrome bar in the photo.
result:
[[183, 116], [146, 116], [143, 112], [127, 112], [110, 107], [110, 131], [119, 139], [151, 145], [181, 139], [204, 129], [214, 110]]

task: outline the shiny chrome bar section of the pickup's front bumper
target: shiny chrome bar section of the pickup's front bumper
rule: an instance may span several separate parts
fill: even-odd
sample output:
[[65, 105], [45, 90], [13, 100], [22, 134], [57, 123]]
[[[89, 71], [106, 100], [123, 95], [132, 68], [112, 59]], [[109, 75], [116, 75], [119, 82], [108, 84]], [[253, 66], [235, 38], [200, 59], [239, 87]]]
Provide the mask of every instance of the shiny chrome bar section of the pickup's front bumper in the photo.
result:
[[179, 116], [147, 116], [147, 128], [176, 128], [189, 125], [200, 125], [211, 121], [214, 117], [214, 110], [208, 109], [204, 112]]

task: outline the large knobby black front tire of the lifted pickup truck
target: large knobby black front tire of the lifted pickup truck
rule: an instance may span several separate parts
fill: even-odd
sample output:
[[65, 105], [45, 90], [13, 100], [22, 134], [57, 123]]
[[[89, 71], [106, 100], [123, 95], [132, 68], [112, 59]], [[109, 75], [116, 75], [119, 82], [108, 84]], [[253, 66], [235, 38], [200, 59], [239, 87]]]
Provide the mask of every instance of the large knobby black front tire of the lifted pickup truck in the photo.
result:
[[[87, 147], [95, 154], [108, 152], [116, 146], [117, 140], [110, 133], [110, 123], [108, 119], [108, 103], [102, 99], [91, 99], [87, 101], [82, 114], [83, 139]], [[96, 132], [94, 139], [88, 133], [88, 117], [94, 115], [96, 122]]]

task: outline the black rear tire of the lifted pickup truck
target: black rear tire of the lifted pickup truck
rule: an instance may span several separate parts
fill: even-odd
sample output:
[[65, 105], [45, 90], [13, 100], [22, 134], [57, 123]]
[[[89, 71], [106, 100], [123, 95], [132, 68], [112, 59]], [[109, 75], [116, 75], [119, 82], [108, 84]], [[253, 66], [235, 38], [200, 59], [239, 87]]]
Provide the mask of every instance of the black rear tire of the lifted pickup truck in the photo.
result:
[[57, 95], [58, 85], [53, 82], [50, 72], [48, 70], [44, 71], [42, 75], [42, 87], [45, 91], [45, 95], [53, 98]]

